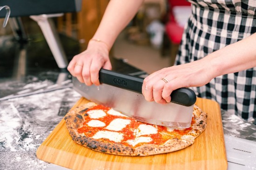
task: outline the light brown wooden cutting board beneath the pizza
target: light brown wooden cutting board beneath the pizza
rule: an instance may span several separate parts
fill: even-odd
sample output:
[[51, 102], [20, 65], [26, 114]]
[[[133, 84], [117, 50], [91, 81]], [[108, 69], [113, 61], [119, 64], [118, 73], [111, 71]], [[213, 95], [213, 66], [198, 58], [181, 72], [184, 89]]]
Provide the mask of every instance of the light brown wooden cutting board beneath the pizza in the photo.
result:
[[[74, 107], [87, 102], [82, 97]], [[208, 113], [206, 129], [193, 145], [180, 151], [147, 157], [117, 156], [92, 151], [71, 139], [65, 120], [62, 119], [39, 146], [36, 155], [46, 162], [74, 170], [226, 170], [220, 107], [215, 101], [201, 98], [197, 98], [196, 105]]]

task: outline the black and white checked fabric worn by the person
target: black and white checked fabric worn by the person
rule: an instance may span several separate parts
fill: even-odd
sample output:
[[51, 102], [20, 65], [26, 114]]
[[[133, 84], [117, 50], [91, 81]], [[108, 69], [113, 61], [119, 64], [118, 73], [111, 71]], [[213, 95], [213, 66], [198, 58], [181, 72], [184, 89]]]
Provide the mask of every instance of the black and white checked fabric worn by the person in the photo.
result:
[[[256, 0], [189, 1], [192, 14], [175, 64], [199, 60], [256, 32]], [[215, 100], [245, 120], [256, 118], [256, 68], [219, 76], [192, 89], [198, 97]]]

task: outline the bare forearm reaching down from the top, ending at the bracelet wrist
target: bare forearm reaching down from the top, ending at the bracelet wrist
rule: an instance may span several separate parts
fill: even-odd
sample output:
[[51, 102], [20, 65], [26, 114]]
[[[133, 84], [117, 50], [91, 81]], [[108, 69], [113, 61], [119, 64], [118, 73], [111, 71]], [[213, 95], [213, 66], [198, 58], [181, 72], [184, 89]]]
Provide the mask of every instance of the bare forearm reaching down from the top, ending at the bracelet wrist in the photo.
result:
[[100, 39], [112, 47], [118, 34], [137, 13], [143, 0], [110, 0], [93, 39]]

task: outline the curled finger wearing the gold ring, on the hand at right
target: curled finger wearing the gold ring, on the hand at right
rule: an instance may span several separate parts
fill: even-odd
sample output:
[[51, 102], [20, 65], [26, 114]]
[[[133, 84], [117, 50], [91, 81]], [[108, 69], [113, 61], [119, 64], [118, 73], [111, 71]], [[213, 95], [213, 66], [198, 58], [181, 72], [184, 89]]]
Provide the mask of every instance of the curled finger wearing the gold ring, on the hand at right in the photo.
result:
[[153, 97], [154, 101], [157, 103], [166, 103], [165, 100], [162, 100], [162, 90], [166, 82], [162, 81], [161, 79], [158, 80], [154, 85], [153, 85]]

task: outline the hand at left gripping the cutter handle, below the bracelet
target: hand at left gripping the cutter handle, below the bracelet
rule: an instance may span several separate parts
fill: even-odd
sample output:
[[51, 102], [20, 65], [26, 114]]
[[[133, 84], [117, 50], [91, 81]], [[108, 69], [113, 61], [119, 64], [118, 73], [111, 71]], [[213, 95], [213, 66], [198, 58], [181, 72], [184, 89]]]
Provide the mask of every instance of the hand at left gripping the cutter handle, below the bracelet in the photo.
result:
[[73, 57], [67, 66], [67, 70], [79, 82], [85, 83], [87, 86], [92, 84], [98, 86], [100, 85], [100, 69], [112, 69], [108, 57], [109, 50], [107, 44], [91, 40], [87, 50]]

